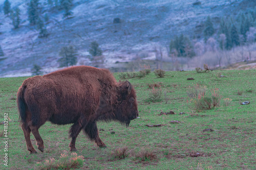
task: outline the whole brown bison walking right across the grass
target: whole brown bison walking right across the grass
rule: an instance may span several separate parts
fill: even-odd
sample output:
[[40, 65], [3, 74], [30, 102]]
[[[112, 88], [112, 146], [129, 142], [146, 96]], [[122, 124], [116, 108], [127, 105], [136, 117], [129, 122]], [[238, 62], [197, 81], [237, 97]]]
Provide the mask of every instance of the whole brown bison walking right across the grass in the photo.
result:
[[44, 152], [44, 141], [38, 129], [47, 120], [70, 128], [70, 151], [76, 151], [76, 137], [83, 130], [98, 147], [97, 121], [117, 120], [129, 126], [138, 117], [136, 93], [128, 81], [117, 83], [107, 69], [74, 66], [25, 80], [17, 93], [20, 124], [27, 149], [36, 153], [30, 140], [32, 131], [38, 149]]

